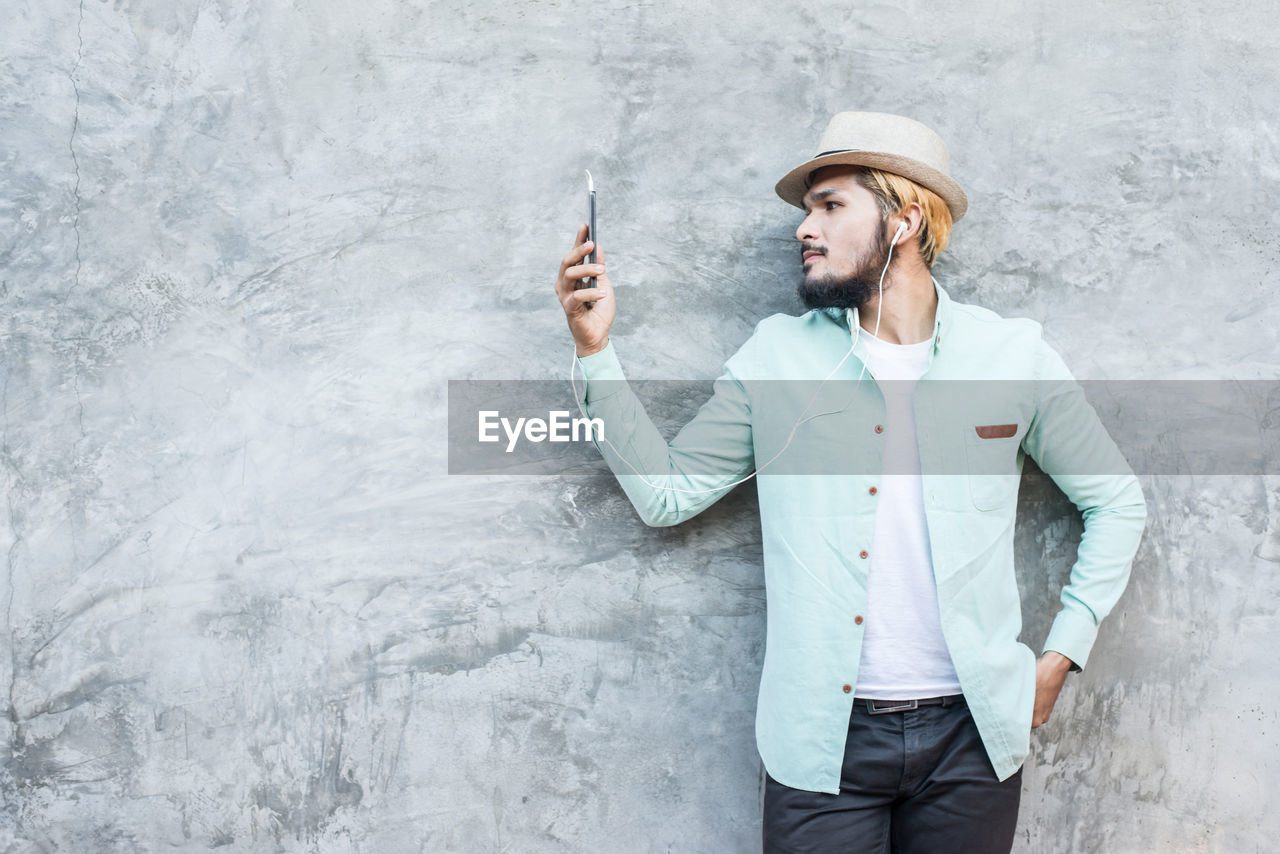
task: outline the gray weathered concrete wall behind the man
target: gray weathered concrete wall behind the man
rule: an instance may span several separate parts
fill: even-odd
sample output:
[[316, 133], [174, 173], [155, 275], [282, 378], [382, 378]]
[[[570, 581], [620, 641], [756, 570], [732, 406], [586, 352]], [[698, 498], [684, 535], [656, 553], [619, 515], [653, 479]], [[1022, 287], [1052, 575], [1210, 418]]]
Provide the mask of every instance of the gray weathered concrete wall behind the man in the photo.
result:
[[[6, 853], [758, 844], [751, 485], [654, 530], [611, 479], [447, 475], [447, 380], [567, 380], [584, 166], [634, 378], [799, 314], [772, 186], [841, 109], [943, 134], [972, 207], [940, 280], [1079, 376], [1280, 370], [1262, 0], [4, 18]], [[1280, 478], [1143, 483], [1020, 853], [1280, 835]], [[1032, 644], [1079, 531], [1028, 476]]]

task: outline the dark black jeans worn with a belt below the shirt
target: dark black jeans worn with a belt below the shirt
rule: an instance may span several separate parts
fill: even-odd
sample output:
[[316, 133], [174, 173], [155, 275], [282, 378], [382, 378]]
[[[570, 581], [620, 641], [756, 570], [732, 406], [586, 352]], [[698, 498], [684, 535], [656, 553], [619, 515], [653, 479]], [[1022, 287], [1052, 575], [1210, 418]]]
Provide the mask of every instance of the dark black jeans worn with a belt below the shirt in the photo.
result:
[[869, 714], [855, 702], [840, 794], [767, 776], [765, 854], [1007, 854], [1023, 769], [1004, 782], [969, 707]]

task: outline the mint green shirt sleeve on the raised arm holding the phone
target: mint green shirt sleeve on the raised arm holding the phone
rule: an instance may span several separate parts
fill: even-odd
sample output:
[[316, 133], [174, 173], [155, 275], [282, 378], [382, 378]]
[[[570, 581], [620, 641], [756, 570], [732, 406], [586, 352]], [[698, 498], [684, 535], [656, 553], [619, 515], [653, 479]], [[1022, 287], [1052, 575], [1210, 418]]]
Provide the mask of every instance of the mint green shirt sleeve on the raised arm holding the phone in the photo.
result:
[[745, 348], [726, 362], [710, 399], [669, 443], [627, 383], [612, 341], [579, 357], [586, 378], [579, 402], [603, 424], [603, 440], [593, 433], [593, 443], [646, 525], [692, 519], [754, 469], [751, 405], [733, 371]]

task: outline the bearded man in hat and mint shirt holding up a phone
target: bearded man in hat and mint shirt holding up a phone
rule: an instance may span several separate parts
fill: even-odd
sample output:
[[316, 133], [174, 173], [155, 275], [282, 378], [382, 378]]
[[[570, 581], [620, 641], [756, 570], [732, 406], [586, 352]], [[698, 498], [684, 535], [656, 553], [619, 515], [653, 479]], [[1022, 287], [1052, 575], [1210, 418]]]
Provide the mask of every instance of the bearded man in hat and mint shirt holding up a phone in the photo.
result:
[[[810, 311], [763, 320], [669, 443], [625, 382], [604, 252], [584, 264], [579, 229], [556, 292], [580, 403], [649, 525], [759, 472], [764, 849], [1009, 851], [1030, 730], [1124, 590], [1146, 503], [1039, 324], [952, 302], [932, 278], [966, 207], [942, 140], [840, 113], [818, 151], [777, 184], [805, 211]], [[1084, 516], [1038, 659], [1018, 640], [1025, 455]]]

